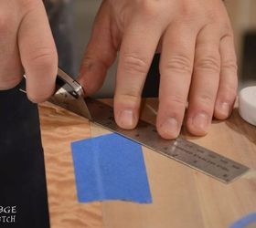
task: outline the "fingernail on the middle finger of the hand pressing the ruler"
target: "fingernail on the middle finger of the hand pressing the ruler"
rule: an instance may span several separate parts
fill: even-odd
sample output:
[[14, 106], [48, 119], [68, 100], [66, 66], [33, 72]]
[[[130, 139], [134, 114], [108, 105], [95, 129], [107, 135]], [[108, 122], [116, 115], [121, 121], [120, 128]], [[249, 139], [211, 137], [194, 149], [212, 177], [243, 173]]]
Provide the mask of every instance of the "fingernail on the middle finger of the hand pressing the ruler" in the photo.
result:
[[175, 118], [166, 119], [160, 126], [160, 131], [165, 138], [176, 138], [179, 134], [177, 120]]

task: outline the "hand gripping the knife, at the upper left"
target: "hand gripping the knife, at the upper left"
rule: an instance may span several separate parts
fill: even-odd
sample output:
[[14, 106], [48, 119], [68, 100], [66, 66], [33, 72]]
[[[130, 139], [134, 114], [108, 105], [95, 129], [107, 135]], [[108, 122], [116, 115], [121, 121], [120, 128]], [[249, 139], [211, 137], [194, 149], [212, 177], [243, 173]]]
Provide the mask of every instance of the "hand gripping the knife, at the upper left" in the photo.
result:
[[42, 0], [0, 1], [0, 35], [0, 90], [16, 87], [25, 73], [27, 97], [47, 99], [58, 57]]

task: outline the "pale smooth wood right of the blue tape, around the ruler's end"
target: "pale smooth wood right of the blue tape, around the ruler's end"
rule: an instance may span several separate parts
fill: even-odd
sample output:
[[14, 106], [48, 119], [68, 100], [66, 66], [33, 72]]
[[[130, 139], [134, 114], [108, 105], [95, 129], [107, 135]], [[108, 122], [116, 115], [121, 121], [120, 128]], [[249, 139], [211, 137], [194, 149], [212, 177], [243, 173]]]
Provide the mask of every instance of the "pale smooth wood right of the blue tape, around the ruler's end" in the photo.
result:
[[[157, 109], [155, 100], [147, 104]], [[144, 119], [154, 121], [147, 106], [144, 111]], [[206, 137], [191, 137], [185, 130], [183, 135], [244, 163], [251, 172], [227, 185], [144, 148], [153, 204], [104, 202], [106, 228], [224, 228], [256, 212], [256, 128], [235, 109], [229, 120], [214, 121]]]

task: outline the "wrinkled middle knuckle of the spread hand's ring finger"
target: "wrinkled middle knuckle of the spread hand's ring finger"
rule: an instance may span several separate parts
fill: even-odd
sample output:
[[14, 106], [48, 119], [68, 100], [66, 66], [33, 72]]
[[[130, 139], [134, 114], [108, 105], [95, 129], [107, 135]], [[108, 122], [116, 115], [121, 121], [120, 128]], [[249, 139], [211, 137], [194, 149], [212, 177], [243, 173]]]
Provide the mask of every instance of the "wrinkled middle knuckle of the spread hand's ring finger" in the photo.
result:
[[208, 55], [200, 57], [195, 64], [197, 70], [208, 70], [213, 73], [219, 73], [220, 71], [220, 59], [214, 55]]

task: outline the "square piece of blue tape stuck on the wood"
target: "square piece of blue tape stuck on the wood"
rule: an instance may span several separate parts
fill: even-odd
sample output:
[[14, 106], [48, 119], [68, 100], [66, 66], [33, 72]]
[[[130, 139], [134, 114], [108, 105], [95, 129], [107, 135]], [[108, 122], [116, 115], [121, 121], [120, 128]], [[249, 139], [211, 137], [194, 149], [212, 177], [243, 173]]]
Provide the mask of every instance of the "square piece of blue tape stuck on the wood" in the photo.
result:
[[118, 134], [71, 143], [79, 202], [152, 202], [140, 144]]

